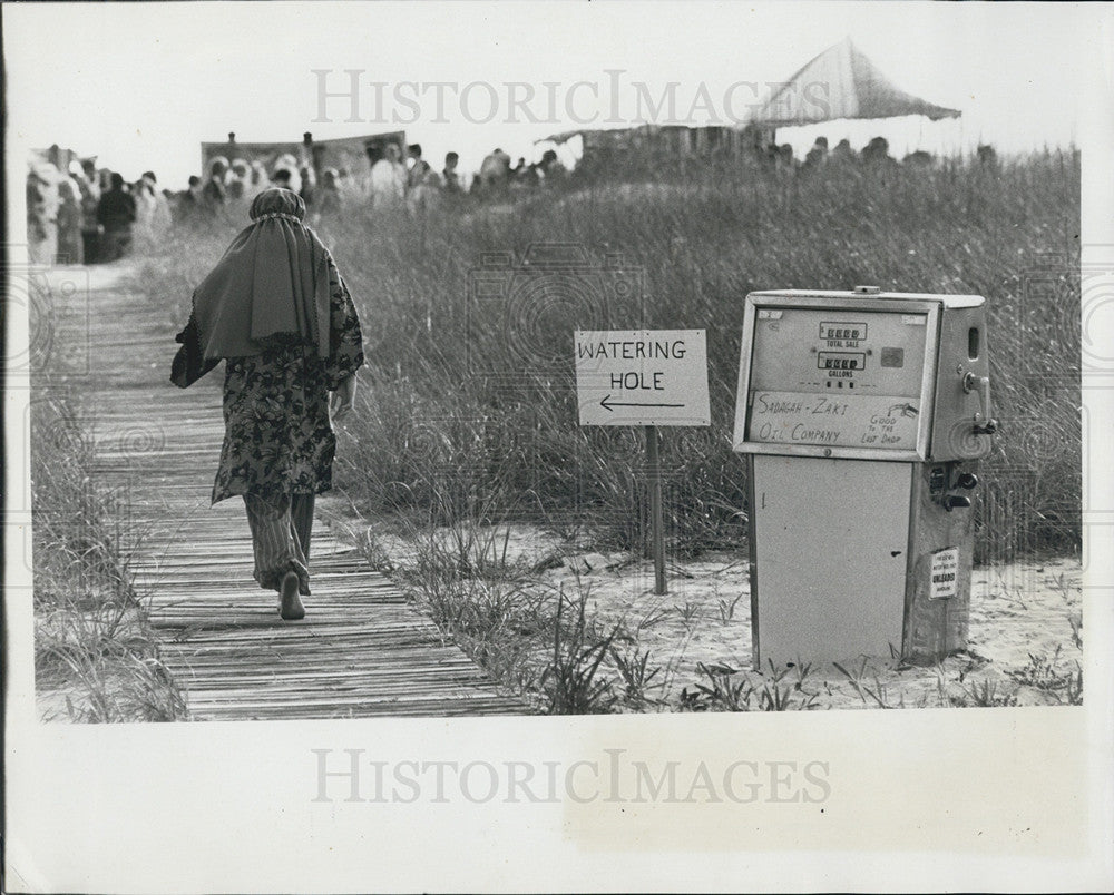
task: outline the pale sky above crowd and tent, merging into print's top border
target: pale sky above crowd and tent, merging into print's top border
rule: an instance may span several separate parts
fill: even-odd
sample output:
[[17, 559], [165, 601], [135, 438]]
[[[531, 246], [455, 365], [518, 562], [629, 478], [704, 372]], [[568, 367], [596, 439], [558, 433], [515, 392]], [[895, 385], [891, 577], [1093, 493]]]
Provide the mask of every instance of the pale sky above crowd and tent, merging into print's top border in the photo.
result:
[[[899, 88], [962, 117], [783, 129], [779, 141], [803, 153], [821, 132], [857, 146], [882, 134], [897, 155], [1026, 151], [1076, 140], [1100, 16], [1108, 8], [1072, 3], [6, 4], [9, 134], [97, 154], [129, 179], [153, 169], [172, 188], [199, 173], [201, 141], [229, 131], [296, 141], [402, 127], [438, 166], [453, 149], [471, 170], [496, 146], [532, 158], [547, 135], [631, 121], [638, 82], [654, 101], [675, 82], [686, 121], [730, 124], [850, 36]], [[342, 96], [322, 102], [322, 87]]]

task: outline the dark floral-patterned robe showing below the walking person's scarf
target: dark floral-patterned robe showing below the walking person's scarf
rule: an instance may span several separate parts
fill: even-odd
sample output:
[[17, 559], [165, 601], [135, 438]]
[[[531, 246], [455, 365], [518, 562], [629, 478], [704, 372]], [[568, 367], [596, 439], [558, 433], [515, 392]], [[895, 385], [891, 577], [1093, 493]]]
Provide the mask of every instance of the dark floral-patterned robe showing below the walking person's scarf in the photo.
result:
[[330, 348], [278, 344], [229, 357], [224, 377], [224, 445], [213, 503], [234, 494], [264, 499], [332, 486], [336, 437], [329, 392], [363, 364], [362, 335], [348, 286], [329, 260]]

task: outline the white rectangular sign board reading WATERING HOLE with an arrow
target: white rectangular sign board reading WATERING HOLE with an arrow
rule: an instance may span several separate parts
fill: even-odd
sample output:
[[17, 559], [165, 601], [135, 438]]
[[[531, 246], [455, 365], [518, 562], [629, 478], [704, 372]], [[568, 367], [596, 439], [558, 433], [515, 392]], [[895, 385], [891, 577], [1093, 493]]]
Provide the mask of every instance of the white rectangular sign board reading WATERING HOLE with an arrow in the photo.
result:
[[710, 425], [704, 330], [577, 331], [580, 425]]

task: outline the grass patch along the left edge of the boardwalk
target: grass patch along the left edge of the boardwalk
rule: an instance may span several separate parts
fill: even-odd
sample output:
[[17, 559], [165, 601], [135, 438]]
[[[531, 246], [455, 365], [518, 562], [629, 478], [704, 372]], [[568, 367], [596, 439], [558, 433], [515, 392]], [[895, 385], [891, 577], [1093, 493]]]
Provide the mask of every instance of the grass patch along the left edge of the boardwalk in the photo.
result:
[[[127, 508], [96, 482], [88, 421], [31, 405], [35, 675], [42, 720], [169, 721], [185, 704], [130, 570]], [[129, 547], [129, 544], [133, 544]]]

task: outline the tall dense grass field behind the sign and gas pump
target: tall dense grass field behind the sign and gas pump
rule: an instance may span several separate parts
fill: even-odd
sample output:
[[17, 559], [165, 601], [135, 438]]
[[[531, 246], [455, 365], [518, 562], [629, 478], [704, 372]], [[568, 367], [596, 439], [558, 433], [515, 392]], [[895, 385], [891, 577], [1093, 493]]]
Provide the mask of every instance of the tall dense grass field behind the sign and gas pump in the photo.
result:
[[[580, 429], [571, 331], [709, 332], [710, 430], [667, 431], [668, 530], [680, 554], [737, 544], [742, 463], [730, 450], [742, 298], [758, 288], [977, 293], [989, 308], [1001, 435], [984, 462], [979, 561], [1075, 552], [1081, 540], [1077, 155], [985, 168], [844, 168], [791, 183], [707, 170], [675, 184], [590, 184], [414, 220], [353, 212], [322, 229], [358, 296], [372, 372], [341, 481], [373, 512], [575, 517], [644, 547], [641, 433]], [[486, 253], [576, 243], [616, 277], [477, 295]], [[570, 296], [571, 293], [571, 296]], [[519, 301], [520, 299], [520, 301]], [[585, 327], [587, 328], [587, 327]], [[451, 494], [447, 494], [447, 490]], [[449, 496], [450, 500], [446, 500]], [[451, 514], [450, 510], [450, 514]], [[450, 520], [444, 520], [450, 521]]]

